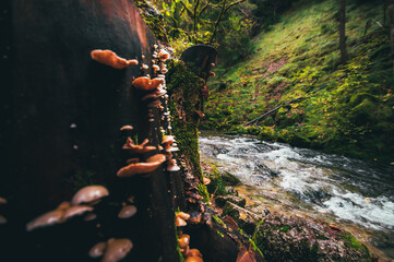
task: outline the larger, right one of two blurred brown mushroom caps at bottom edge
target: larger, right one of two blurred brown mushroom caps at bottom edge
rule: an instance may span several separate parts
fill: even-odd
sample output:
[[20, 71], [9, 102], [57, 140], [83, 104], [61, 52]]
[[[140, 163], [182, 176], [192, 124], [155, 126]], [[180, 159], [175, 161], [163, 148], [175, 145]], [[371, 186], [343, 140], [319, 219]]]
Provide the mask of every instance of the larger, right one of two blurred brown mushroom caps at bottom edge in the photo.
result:
[[107, 241], [107, 249], [102, 262], [117, 262], [123, 259], [132, 248], [133, 243], [127, 238], [111, 238]]

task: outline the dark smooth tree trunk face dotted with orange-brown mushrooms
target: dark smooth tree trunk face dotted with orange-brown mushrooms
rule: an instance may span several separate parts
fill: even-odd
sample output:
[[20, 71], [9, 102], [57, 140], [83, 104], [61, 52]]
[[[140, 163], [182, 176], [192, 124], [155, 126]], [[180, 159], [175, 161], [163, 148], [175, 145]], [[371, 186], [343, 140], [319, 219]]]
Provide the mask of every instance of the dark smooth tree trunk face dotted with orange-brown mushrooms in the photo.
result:
[[[2, 258], [89, 261], [95, 243], [115, 237], [134, 245], [126, 261], [179, 261], [175, 209], [163, 168], [148, 178], [116, 176], [129, 157], [121, 150], [128, 135], [157, 145], [160, 134], [159, 109], [148, 122], [147, 103], [141, 100], [145, 94], [131, 85], [134, 78], [153, 75], [141, 63], [152, 68], [157, 44], [139, 10], [131, 0], [14, 0], [5, 8], [9, 38], [1, 50], [8, 50], [3, 72], [11, 83], [4, 86], [5, 97], [1, 95], [7, 110], [1, 112], [5, 121], [0, 138], [8, 152], [0, 175], [0, 196], [8, 199], [0, 206], [8, 218], [0, 225]], [[94, 49], [110, 49], [140, 63], [114, 69], [92, 60]], [[119, 131], [124, 124], [134, 127], [128, 135]], [[27, 222], [88, 184], [109, 191], [95, 206], [96, 221], [76, 217], [26, 231]], [[131, 195], [138, 213], [119, 219]]]

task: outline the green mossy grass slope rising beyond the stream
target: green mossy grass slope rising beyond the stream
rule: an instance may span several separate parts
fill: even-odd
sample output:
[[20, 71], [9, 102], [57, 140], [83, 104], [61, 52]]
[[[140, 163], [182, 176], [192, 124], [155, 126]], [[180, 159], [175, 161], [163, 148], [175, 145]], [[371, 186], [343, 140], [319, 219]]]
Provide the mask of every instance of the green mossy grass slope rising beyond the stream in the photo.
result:
[[[230, 68], [219, 66], [208, 83], [203, 128], [394, 162], [389, 36], [375, 23], [383, 23], [383, 7], [348, 1], [350, 60], [341, 66], [336, 2], [299, 2], [253, 39], [253, 55]], [[298, 97], [307, 98], [265, 118], [258, 129], [240, 126]]]

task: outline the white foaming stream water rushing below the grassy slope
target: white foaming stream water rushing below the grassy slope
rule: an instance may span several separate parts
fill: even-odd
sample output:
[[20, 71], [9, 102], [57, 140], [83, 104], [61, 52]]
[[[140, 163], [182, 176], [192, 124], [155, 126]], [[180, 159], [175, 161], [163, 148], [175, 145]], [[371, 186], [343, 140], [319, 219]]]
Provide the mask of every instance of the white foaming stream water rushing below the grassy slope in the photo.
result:
[[202, 160], [237, 176], [254, 211], [311, 216], [350, 230], [394, 261], [394, 167], [262, 142], [200, 136]]

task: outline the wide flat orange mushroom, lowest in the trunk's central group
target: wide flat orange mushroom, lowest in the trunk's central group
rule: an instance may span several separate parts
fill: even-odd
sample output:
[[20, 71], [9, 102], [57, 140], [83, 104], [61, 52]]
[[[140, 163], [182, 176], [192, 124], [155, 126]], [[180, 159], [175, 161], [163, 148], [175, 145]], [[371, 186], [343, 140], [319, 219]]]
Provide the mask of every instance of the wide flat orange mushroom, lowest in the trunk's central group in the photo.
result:
[[132, 177], [136, 174], [145, 174], [156, 170], [164, 162], [166, 156], [163, 154], [156, 154], [146, 159], [146, 163], [135, 163], [129, 166], [120, 168], [117, 172], [118, 177]]

